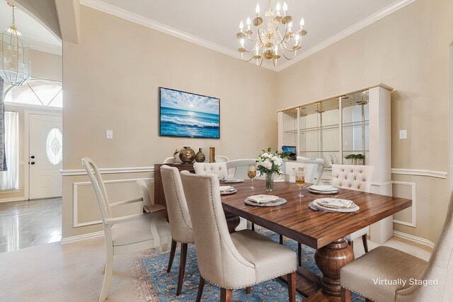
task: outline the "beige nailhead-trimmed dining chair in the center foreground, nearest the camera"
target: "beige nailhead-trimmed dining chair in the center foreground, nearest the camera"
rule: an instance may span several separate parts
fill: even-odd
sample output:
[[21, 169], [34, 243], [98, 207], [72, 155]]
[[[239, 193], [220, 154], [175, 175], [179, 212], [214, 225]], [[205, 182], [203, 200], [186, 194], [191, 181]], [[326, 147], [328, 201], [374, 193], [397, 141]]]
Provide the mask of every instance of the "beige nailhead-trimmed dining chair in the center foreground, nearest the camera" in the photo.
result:
[[201, 299], [205, 280], [221, 288], [221, 301], [231, 301], [233, 289], [285, 274], [289, 301], [295, 301], [296, 253], [250, 230], [229, 234], [217, 176], [182, 171], [181, 180], [200, 268], [197, 301]]

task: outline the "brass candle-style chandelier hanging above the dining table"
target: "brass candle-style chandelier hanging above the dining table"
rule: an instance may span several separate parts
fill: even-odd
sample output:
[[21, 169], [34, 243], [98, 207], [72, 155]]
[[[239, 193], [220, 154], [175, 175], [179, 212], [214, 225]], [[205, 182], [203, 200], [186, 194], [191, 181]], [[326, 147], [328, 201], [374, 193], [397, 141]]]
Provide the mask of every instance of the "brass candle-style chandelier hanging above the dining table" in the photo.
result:
[[[266, 23], [263, 25], [263, 18], [260, 16], [260, 5], [256, 4], [256, 17], [253, 19], [253, 25], [256, 26], [256, 34], [251, 29], [251, 20], [247, 18], [247, 29], [243, 31], [243, 22], [239, 23], [239, 33], [236, 37], [239, 39], [241, 47], [241, 58], [245, 62], [256, 59], [256, 65], [261, 66], [263, 59], [272, 61], [274, 66], [277, 66], [277, 60], [280, 57], [292, 60], [296, 57], [297, 50], [301, 48], [302, 38], [307, 31], [304, 29], [304, 18], [300, 20], [300, 29], [296, 33], [292, 31], [292, 16], [287, 14], [288, 6], [283, 2], [283, 7], [280, 6], [280, 1], [275, 6], [275, 11], [270, 6], [265, 11]], [[283, 8], [283, 11], [280, 11]], [[244, 46], [252, 44], [253, 48], [247, 50]], [[249, 59], [245, 58], [245, 53], [251, 53]]]

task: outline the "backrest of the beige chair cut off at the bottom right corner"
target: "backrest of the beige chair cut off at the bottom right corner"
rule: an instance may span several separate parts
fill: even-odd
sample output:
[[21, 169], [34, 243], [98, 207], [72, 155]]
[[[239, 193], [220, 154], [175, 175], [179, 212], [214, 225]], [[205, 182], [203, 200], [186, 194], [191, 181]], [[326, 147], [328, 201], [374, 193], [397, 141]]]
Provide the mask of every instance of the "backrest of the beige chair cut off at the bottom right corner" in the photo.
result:
[[417, 278], [420, 281], [437, 281], [435, 285], [413, 284], [396, 291], [396, 301], [453, 301], [453, 192], [450, 195], [445, 223], [432, 250], [428, 265]]

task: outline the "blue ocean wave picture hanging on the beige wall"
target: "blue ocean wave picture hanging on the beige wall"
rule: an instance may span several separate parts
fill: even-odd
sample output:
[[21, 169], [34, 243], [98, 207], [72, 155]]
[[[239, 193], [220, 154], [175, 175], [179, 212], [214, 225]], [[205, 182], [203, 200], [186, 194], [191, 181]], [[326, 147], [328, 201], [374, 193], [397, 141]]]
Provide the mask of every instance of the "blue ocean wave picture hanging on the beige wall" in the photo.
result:
[[161, 137], [220, 138], [220, 100], [159, 87]]

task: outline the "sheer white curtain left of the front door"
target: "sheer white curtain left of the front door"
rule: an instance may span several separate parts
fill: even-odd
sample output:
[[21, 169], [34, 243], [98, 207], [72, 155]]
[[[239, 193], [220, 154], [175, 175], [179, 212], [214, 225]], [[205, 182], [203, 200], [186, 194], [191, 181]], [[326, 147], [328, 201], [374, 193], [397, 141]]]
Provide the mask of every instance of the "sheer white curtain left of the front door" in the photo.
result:
[[7, 171], [0, 172], [0, 190], [19, 187], [19, 114], [5, 111], [4, 146]]

